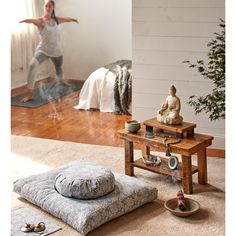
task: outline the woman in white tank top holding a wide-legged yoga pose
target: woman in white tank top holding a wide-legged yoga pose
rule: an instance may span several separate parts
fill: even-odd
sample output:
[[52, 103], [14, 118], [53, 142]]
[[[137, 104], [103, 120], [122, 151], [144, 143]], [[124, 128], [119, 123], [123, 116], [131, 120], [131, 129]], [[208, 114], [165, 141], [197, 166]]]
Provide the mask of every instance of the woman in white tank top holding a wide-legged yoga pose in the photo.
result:
[[27, 96], [21, 99], [21, 102], [27, 102], [33, 99], [33, 89], [35, 85], [35, 70], [39, 64], [47, 59], [51, 59], [55, 69], [56, 78], [64, 84], [62, 72], [62, 50], [60, 45], [60, 34], [58, 25], [65, 22], [76, 22], [77, 19], [70, 17], [58, 17], [55, 15], [55, 2], [45, 0], [43, 10], [44, 15], [38, 19], [25, 19], [19, 23], [29, 23], [37, 26], [40, 33], [40, 42], [36, 48], [35, 54], [31, 60], [27, 75]]

